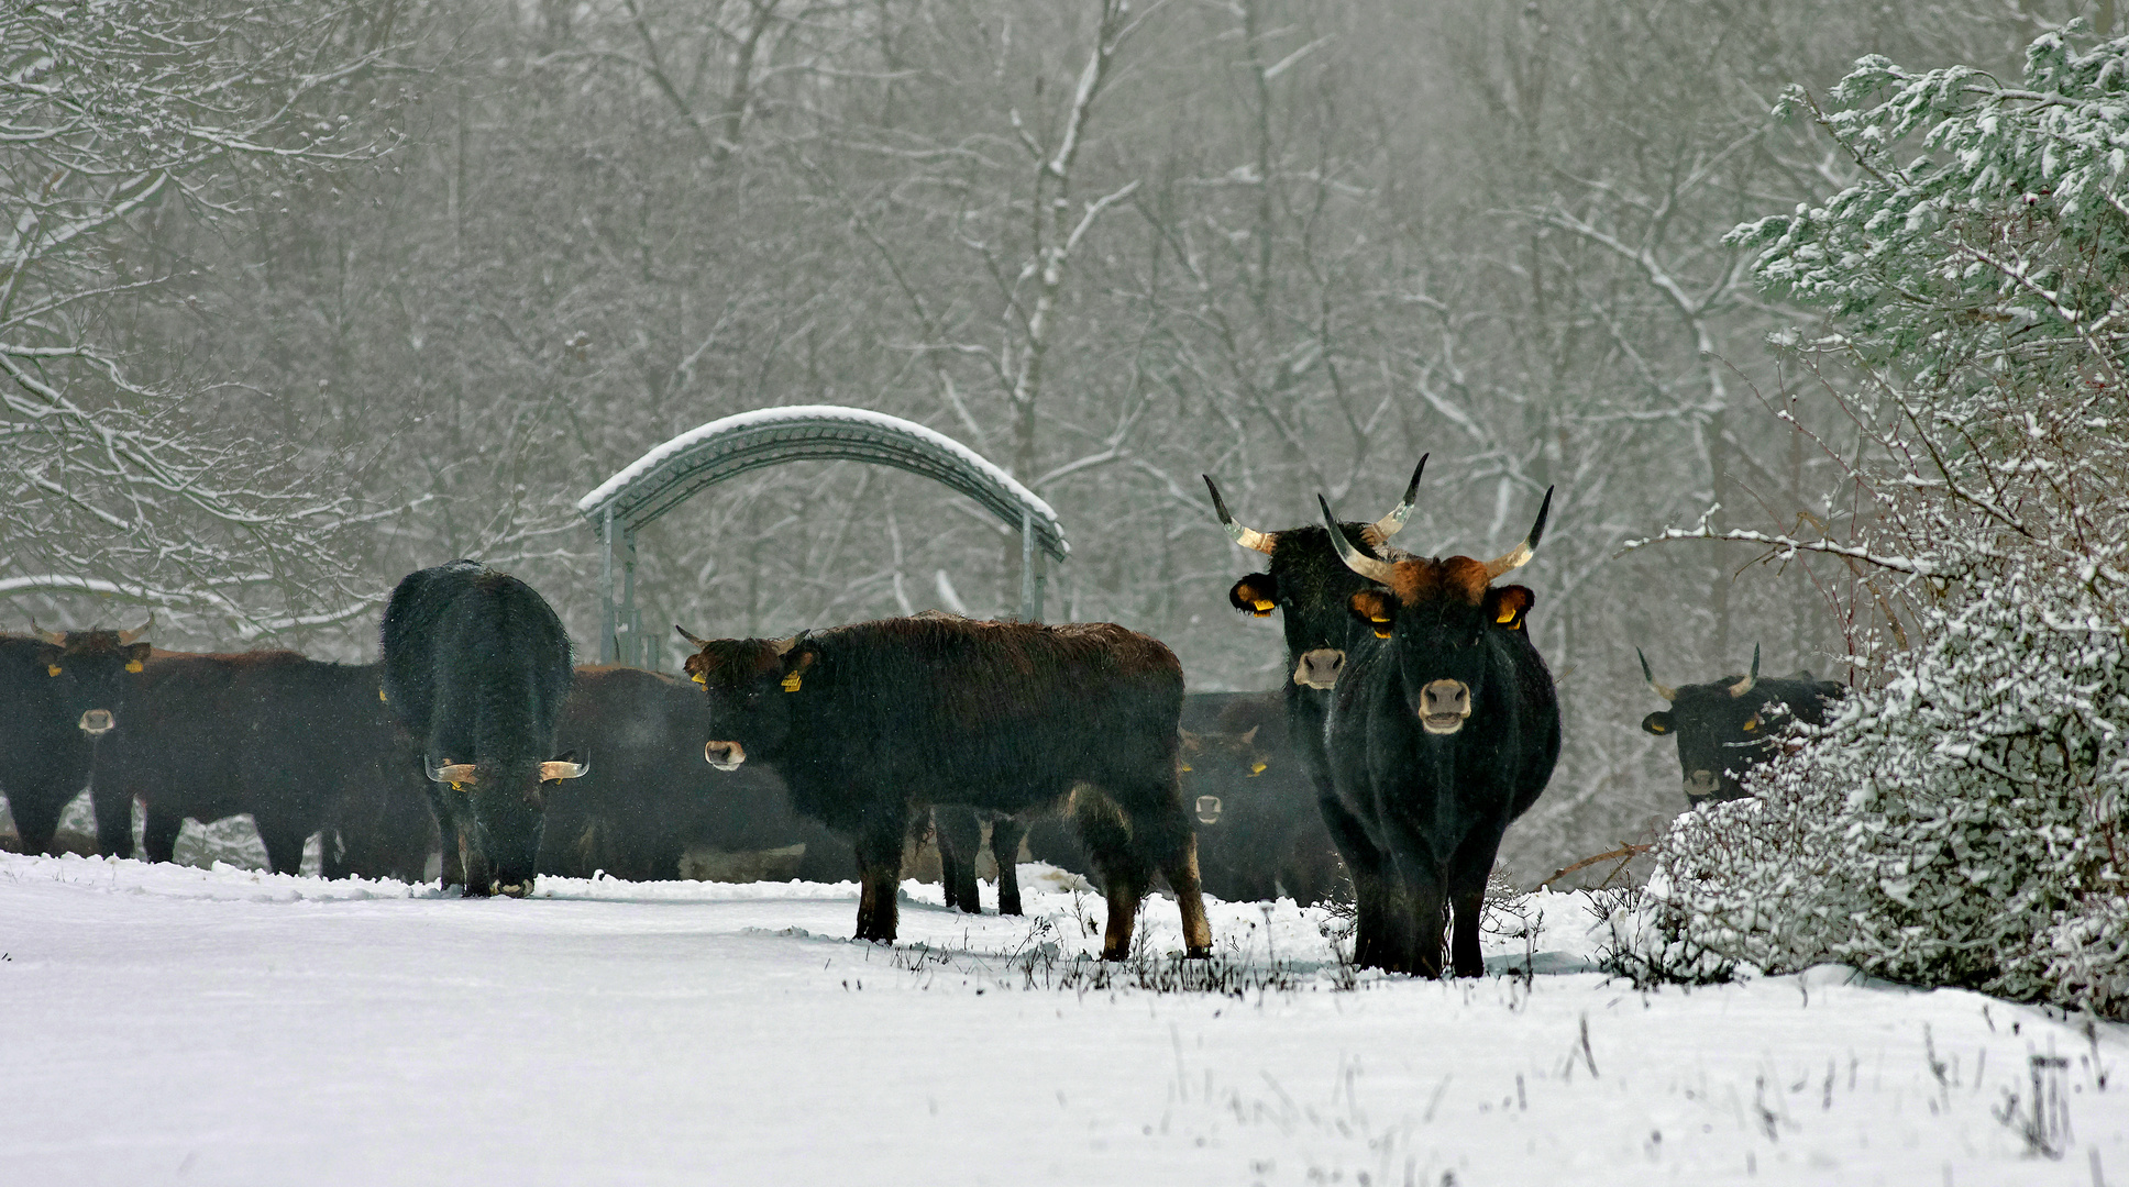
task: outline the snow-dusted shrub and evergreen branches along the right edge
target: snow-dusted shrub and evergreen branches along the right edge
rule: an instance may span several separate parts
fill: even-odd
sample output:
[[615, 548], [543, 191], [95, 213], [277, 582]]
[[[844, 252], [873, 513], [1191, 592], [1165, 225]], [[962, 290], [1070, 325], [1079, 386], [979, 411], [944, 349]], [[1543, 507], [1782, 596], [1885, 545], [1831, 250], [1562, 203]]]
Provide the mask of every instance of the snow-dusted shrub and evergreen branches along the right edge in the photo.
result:
[[1673, 825], [1633, 949], [2129, 1017], [2129, 38], [2044, 36], [2018, 87], [1865, 57], [1833, 100], [1784, 104], [1856, 183], [1733, 240], [1863, 377], [1863, 513], [1776, 542], [1863, 574], [1861, 687]]

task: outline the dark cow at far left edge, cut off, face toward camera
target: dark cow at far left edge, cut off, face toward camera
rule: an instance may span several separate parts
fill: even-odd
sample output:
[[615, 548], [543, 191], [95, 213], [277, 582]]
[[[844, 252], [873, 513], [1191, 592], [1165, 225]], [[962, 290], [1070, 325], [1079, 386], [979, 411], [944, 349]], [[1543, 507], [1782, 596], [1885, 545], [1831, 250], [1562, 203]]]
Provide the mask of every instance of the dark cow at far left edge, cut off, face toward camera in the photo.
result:
[[0, 796], [23, 853], [55, 853], [66, 804], [89, 785], [96, 747], [119, 723], [132, 672], [149, 645], [141, 630], [0, 634]]

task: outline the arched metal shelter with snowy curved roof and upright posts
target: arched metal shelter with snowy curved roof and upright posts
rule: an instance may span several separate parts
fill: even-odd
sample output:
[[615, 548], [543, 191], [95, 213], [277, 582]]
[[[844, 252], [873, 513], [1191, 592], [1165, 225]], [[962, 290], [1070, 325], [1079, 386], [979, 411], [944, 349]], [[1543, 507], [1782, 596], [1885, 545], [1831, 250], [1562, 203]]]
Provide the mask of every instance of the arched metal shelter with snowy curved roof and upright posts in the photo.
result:
[[[600, 664], [645, 659], [637, 532], [705, 489], [783, 462], [869, 462], [933, 479], [1020, 530], [1020, 619], [1041, 621], [1043, 557], [1071, 555], [1056, 511], [967, 445], [867, 408], [758, 408], [688, 430], [577, 500], [600, 540]], [[617, 598], [615, 598], [617, 596]]]

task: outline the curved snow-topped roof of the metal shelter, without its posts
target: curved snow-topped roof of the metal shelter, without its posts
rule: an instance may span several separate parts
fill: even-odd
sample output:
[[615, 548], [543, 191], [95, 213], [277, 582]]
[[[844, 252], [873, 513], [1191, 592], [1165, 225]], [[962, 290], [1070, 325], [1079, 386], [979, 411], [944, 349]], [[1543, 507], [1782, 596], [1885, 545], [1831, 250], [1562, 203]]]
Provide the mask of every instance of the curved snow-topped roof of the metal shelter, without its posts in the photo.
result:
[[1016, 530], [1033, 519], [1037, 547], [1060, 562], [1071, 555], [1056, 511], [967, 445], [915, 421], [837, 404], [758, 408], [688, 430], [577, 500], [577, 511], [603, 530], [611, 508], [615, 525], [632, 536], [703, 487], [747, 470], [835, 459], [922, 474], [973, 498]]

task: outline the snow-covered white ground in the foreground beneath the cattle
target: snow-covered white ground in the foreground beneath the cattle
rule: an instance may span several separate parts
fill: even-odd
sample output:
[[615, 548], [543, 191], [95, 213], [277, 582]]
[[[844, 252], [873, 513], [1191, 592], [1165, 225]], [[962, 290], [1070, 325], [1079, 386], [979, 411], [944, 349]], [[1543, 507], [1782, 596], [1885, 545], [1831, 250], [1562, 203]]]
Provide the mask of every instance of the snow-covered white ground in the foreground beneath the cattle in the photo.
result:
[[[1492, 964], [1582, 968], [1588, 902]], [[1107, 985], [1099, 896], [1028, 906], [909, 883], [886, 949], [854, 885], [0, 853], [0, 1183], [2129, 1185], [2129, 1027], [1831, 968], [1352, 979], [1290, 902], [1211, 908], [1237, 991], [1156, 991], [1173, 902]]]

